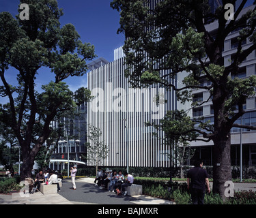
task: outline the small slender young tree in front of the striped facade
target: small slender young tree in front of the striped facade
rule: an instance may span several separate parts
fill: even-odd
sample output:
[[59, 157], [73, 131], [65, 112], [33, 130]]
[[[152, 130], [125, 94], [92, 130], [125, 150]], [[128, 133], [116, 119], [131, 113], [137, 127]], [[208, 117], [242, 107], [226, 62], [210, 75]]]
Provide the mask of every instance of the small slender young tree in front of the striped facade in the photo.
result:
[[109, 146], [104, 144], [102, 138], [102, 131], [93, 125], [88, 125], [88, 136], [90, 142], [87, 142], [87, 161], [96, 166], [96, 176], [98, 166], [102, 163], [109, 154]]

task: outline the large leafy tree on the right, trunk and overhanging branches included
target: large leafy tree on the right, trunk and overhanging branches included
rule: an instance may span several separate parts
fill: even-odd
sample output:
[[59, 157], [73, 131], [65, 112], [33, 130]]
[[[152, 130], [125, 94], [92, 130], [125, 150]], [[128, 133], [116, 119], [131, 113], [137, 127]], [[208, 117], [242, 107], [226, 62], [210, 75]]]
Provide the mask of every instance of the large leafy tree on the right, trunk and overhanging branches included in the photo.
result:
[[[255, 76], [234, 79], [229, 76], [236, 75], [241, 63], [256, 49], [256, 10], [253, 5], [242, 14], [246, 4], [243, 0], [237, 5], [233, 20], [226, 20], [225, 5], [238, 2], [223, 0], [222, 3], [215, 11], [210, 9], [208, 1], [197, 0], [160, 1], [153, 9], [148, 0], [114, 0], [111, 7], [121, 14], [118, 33], [126, 35], [126, 76], [133, 87], [159, 84], [175, 90], [182, 102], [191, 101], [192, 89], [210, 92], [208, 101], [212, 98], [214, 125], [202, 119], [193, 120], [193, 127], [182, 133], [198, 133], [201, 137], [195, 140], [214, 142], [213, 192], [224, 199], [225, 181], [231, 181], [230, 130], [232, 127], [256, 129], [235, 123], [244, 114], [242, 105], [246, 98], [255, 95]], [[218, 24], [214, 36], [205, 28], [205, 23], [211, 20]], [[238, 48], [230, 64], [225, 66], [224, 41], [238, 29]], [[243, 48], [246, 39], [251, 44]], [[163, 74], [165, 69], [171, 72]], [[169, 81], [181, 72], [187, 72], [187, 76], [182, 81], [184, 87], [178, 89]], [[200, 86], [202, 80], [208, 81], [208, 85]], [[197, 102], [193, 107], [196, 106], [199, 106]]]

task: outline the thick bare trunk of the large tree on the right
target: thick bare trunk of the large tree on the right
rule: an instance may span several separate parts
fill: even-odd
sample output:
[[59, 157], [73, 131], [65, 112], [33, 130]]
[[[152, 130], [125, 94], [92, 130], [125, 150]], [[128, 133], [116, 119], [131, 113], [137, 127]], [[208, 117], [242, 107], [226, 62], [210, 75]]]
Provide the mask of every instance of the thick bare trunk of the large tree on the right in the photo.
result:
[[226, 181], [232, 180], [231, 174], [231, 159], [230, 148], [231, 138], [230, 133], [227, 135], [221, 135], [214, 139], [213, 146], [213, 193], [218, 193], [223, 200], [225, 200], [224, 186]]

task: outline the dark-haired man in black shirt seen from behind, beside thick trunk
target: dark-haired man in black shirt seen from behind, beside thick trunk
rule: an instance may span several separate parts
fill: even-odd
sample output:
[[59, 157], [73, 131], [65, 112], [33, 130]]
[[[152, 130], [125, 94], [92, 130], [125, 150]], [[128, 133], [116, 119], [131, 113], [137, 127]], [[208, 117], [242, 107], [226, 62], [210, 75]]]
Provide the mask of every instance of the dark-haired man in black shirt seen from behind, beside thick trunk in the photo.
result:
[[193, 204], [203, 204], [205, 196], [205, 184], [208, 193], [211, 191], [208, 174], [202, 167], [203, 161], [196, 161], [195, 168], [188, 170], [187, 174], [188, 189], [190, 189]]

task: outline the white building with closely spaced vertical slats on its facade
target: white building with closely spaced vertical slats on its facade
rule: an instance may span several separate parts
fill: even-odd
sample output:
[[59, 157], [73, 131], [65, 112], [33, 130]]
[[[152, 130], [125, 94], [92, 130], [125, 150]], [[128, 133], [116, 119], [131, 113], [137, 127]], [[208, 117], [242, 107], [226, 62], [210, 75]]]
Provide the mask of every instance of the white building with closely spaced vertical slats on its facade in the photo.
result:
[[[95, 97], [88, 103], [88, 124], [102, 131], [101, 140], [109, 146], [101, 165], [169, 167], [169, 146], [154, 136], [154, 127], [145, 123], [158, 123], [167, 110], [177, 108], [175, 92], [154, 86], [132, 89], [124, 76], [122, 48], [117, 48], [114, 54], [115, 60], [105, 65], [99, 65], [101, 59], [94, 61], [95, 66], [88, 73], [88, 89]], [[177, 84], [177, 79], [171, 82]], [[157, 96], [168, 99], [167, 104], [157, 104]], [[158, 136], [163, 133], [158, 132]]]

